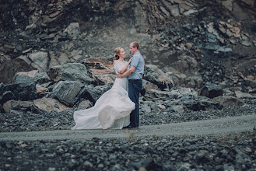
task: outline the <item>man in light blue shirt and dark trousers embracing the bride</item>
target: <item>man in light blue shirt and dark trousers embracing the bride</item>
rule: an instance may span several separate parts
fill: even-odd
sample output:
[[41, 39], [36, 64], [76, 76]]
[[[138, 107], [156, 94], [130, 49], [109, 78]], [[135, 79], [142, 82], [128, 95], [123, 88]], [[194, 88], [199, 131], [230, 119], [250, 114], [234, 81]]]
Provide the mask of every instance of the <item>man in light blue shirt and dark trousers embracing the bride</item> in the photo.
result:
[[135, 110], [132, 110], [132, 113], [130, 114], [130, 124], [128, 127], [124, 128], [139, 127], [139, 92], [142, 89], [142, 75], [144, 73], [145, 65], [144, 58], [139, 52], [138, 42], [132, 42], [130, 44], [130, 51], [133, 54], [130, 68], [122, 75], [117, 74], [117, 78], [128, 76], [128, 95], [132, 102], [135, 103]]

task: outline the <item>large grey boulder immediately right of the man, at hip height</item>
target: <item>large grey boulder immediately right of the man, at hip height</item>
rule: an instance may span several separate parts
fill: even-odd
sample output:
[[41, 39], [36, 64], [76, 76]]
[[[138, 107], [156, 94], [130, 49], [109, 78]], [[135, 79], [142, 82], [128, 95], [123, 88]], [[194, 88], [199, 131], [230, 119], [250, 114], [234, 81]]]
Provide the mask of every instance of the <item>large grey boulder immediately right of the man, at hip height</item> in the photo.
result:
[[160, 68], [157, 68], [156, 65], [145, 66], [144, 79], [156, 84], [160, 89], [170, 89], [173, 87], [173, 81], [170, 76], [167, 76]]

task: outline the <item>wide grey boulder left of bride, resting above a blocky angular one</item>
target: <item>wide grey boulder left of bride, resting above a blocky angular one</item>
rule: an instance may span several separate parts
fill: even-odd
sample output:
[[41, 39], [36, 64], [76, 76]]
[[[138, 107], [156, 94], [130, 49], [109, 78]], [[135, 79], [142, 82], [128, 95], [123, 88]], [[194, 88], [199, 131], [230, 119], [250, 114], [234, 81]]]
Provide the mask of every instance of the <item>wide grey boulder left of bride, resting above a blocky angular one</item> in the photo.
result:
[[58, 65], [50, 68], [47, 75], [54, 80], [59, 81], [79, 81], [90, 84], [95, 80], [89, 77], [89, 73], [85, 65], [79, 63], [68, 63], [65, 65]]

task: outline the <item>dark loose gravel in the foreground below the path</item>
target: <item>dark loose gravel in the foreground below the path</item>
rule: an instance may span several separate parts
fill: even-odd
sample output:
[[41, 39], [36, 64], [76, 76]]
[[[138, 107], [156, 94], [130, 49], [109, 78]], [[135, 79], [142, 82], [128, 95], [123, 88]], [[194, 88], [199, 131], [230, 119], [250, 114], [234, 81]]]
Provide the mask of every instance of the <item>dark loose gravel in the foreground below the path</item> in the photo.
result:
[[0, 141], [0, 170], [251, 170], [256, 132]]

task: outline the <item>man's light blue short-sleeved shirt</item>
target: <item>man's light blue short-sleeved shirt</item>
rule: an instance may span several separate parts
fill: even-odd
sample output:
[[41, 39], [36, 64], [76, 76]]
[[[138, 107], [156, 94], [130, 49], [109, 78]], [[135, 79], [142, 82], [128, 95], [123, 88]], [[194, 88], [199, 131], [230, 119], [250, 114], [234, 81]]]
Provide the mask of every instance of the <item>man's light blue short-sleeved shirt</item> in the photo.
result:
[[128, 75], [128, 79], [142, 79], [142, 75], [144, 73], [144, 65], [145, 61], [140, 52], [136, 52], [133, 54], [132, 61], [130, 63], [131, 66], [135, 66], [135, 72], [132, 75]]

